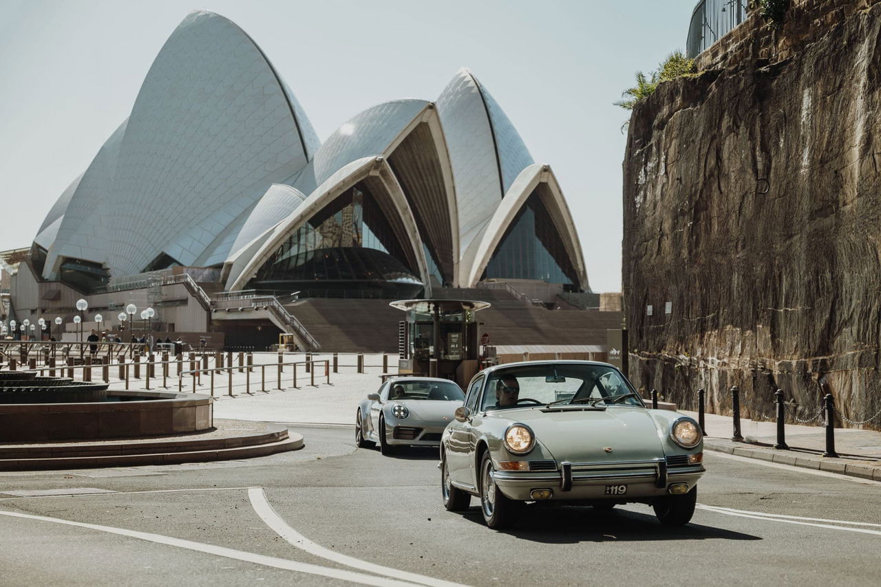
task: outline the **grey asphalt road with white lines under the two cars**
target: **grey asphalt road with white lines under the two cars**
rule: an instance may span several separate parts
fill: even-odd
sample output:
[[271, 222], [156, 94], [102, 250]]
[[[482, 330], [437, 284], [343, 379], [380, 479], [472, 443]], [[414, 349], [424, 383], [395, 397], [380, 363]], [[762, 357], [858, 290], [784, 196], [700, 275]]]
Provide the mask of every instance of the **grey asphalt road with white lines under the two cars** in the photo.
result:
[[0, 584], [878, 581], [871, 481], [707, 453], [684, 528], [643, 505], [531, 505], [497, 532], [477, 500], [443, 509], [436, 451], [381, 457], [351, 427], [293, 429], [306, 448], [248, 461], [0, 472]]

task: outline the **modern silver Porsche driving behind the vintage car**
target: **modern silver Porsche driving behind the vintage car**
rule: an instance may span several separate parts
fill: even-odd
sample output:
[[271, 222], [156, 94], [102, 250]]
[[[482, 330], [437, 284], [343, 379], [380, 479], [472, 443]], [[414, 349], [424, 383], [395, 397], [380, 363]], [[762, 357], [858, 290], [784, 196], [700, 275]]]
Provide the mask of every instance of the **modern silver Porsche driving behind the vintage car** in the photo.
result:
[[407, 446], [438, 446], [441, 433], [463, 404], [462, 389], [448, 379], [395, 377], [361, 400], [355, 416], [359, 448], [377, 443], [383, 455]]

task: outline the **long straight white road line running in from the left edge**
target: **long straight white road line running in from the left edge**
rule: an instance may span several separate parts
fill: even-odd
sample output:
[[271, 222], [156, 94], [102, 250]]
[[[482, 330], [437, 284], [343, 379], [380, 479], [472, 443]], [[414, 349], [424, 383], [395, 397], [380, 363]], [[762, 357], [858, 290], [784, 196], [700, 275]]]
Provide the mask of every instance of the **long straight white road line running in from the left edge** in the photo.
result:
[[119, 534], [120, 536], [128, 536], [130, 538], [146, 540], [147, 542], [155, 542], [157, 544], [177, 546], [179, 548], [195, 550], [199, 553], [214, 554], [216, 556], [223, 556], [236, 561], [253, 562], [258, 565], [263, 565], [264, 567], [281, 568], [283, 570], [291, 570], [298, 573], [307, 573], [308, 575], [327, 576], [332, 579], [341, 579], [343, 581], [350, 581], [352, 583], [376, 585], [377, 587], [384, 587], [385, 585], [412, 587], [413, 584], [395, 581], [387, 577], [377, 577], [373, 575], [365, 575], [364, 573], [356, 573], [354, 571], [321, 567], [319, 565], [312, 565], [306, 562], [287, 561], [285, 559], [279, 559], [274, 556], [247, 553], [241, 550], [234, 550], [233, 548], [225, 548], [224, 546], [214, 546], [210, 544], [203, 544], [201, 542], [193, 542], [192, 540], [175, 539], [170, 536], [162, 536], [160, 534], [126, 530], [124, 528], [114, 528], [112, 526], [71, 522], [70, 520], [63, 520], [56, 517], [33, 516], [32, 514], [21, 514], [15, 511], [0, 510], [0, 516], [21, 517], [29, 520], [38, 520], [41, 522], [52, 522], [54, 524], [78, 526], [80, 528], [87, 528], [89, 530], [109, 532], [111, 534]]

